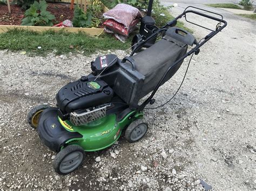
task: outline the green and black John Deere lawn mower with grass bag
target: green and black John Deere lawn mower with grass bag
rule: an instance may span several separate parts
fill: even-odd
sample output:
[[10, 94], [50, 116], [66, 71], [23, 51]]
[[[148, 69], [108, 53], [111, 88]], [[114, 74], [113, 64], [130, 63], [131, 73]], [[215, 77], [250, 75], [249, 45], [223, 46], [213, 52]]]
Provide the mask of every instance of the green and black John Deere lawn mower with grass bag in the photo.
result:
[[[153, 96], [158, 88], [177, 72], [187, 56], [198, 54], [199, 48], [227, 25], [221, 15], [203, 10], [218, 15], [213, 17], [201, 11], [189, 6], [151, 36], [138, 41], [131, 55], [122, 60], [114, 54], [97, 57], [91, 62], [89, 75], [60, 88], [57, 107], [43, 104], [29, 112], [29, 124], [37, 129], [43, 144], [57, 152], [53, 168], [58, 174], [74, 171], [82, 164], [85, 152], [113, 145], [122, 132], [130, 143], [145, 135], [148, 124], [143, 110], [155, 102]], [[187, 13], [212, 19], [217, 25], [198, 42], [190, 32], [174, 26]], [[160, 40], [136, 53], [158, 34], [162, 36]]]

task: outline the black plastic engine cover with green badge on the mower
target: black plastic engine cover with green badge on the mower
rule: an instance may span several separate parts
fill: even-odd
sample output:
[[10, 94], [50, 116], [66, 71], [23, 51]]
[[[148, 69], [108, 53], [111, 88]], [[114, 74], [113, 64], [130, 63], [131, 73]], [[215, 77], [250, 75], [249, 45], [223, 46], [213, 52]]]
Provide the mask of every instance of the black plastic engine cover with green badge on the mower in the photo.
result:
[[76, 82], [62, 87], [56, 95], [57, 105], [62, 115], [70, 114], [78, 109], [95, 107], [108, 103], [113, 97], [113, 90], [104, 81], [83, 76]]

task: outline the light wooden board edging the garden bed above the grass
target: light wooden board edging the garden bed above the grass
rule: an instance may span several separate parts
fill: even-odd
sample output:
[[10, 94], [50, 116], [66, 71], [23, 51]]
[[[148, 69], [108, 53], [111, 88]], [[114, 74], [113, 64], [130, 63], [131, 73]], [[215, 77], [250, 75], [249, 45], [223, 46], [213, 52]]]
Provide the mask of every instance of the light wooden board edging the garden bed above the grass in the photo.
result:
[[96, 28], [78, 28], [78, 27], [51, 27], [51, 26], [19, 26], [19, 25], [0, 25], [0, 33], [7, 32], [11, 29], [18, 29], [18, 30], [29, 30], [29, 31], [66, 31], [66, 32], [75, 32], [78, 33], [79, 31], [87, 33], [89, 36], [98, 36], [100, 33], [103, 32], [103, 29], [96, 29]]

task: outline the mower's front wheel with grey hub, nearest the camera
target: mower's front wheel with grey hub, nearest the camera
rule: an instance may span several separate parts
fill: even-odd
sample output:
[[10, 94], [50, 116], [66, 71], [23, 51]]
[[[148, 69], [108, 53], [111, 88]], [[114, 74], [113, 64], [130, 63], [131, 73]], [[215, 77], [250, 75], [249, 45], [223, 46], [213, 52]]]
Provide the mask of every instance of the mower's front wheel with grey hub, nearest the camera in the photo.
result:
[[69, 174], [83, 162], [85, 152], [79, 145], [69, 145], [61, 150], [53, 161], [53, 168], [60, 175]]

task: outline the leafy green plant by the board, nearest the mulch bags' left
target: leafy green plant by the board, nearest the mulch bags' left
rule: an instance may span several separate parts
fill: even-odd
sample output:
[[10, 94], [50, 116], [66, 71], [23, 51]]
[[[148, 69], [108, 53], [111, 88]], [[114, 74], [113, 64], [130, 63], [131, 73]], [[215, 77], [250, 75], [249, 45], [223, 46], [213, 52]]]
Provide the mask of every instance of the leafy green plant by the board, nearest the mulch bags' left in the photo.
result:
[[92, 14], [89, 10], [85, 13], [78, 5], [76, 5], [72, 22], [75, 27], [91, 27]]

